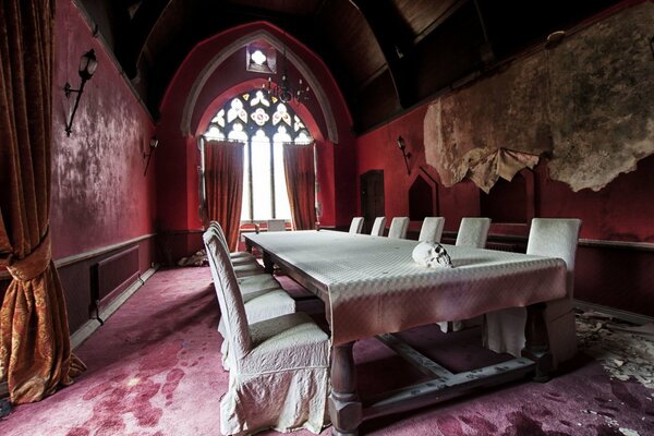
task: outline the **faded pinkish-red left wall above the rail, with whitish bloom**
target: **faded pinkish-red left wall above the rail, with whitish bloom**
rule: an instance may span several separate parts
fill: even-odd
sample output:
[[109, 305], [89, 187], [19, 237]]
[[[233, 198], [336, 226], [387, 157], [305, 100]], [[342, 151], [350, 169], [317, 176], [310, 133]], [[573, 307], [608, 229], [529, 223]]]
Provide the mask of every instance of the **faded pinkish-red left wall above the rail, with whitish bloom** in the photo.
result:
[[[56, 23], [50, 227], [57, 259], [154, 232], [157, 158], [144, 177], [154, 125], [72, 1], [57, 1]], [[80, 57], [92, 48], [98, 68], [69, 137], [75, 94], [66, 99], [63, 87], [78, 87]]]

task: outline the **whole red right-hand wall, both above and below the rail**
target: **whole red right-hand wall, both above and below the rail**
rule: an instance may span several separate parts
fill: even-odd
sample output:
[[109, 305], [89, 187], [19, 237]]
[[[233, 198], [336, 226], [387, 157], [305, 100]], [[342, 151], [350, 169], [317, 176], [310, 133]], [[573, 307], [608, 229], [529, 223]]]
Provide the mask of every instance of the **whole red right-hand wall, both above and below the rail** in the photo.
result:
[[[417, 174], [425, 175], [421, 167], [439, 180], [424, 156], [423, 119], [426, 108], [426, 105], [416, 108], [358, 138], [356, 173], [384, 170], [388, 218], [409, 215], [409, 189]], [[407, 174], [402, 154], [396, 144], [398, 135], [404, 138], [407, 150], [412, 154], [411, 175]], [[654, 156], [640, 160], [635, 171], [620, 174], [598, 192], [582, 190], [576, 193], [565, 183], [550, 180], [546, 159], [541, 160], [533, 175], [533, 192], [528, 195], [528, 202], [532, 202], [529, 206], [536, 217], [578, 217], [583, 221], [574, 296], [654, 316], [654, 245], [651, 245], [654, 243]], [[446, 218], [447, 231], [456, 231], [461, 217], [481, 214], [481, 191], [472, 182], [461, 182], [452, 187], [438, 185], [437, 189], [438, 205], [434, 215]], [[412, 222], [410, 229], [417, 231], [420, 222]], [[491, 233], [499, 235], [499, 239], [502, 235], [525, 238], [529, 226], [496, 222]], [[620, 242], [642, 244], [621, 246]]]

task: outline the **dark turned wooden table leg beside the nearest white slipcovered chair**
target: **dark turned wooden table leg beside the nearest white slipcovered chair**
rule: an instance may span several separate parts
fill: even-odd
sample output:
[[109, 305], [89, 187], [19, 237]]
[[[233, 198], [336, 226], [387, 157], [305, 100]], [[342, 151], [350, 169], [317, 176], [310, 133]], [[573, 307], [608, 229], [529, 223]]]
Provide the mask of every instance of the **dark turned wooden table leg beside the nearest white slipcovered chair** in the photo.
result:
[[359, 434], [362, 421], [362, 404], [356, 393], [356, 373], [352, 348], [354, 342], [332, 348], [331, 351], [331, 395], [329, 416], [331, 434], [354, 436]]

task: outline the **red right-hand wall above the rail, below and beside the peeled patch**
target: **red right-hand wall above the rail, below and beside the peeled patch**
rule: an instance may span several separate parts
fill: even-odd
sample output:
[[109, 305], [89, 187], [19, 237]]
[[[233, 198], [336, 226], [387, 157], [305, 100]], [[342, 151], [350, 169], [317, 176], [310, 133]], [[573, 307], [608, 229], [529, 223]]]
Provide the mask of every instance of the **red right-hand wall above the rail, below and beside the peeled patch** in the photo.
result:
[[[426, 105], [422, 106], [358, 138], [358, 174], [384, 170], [387, 217], [409, 215], [409, 189], [416, 174], [425, 175], [421, 167], [439, 180], [436, 170], [425, 161], [423, 120], [426, 108]], [[411, 175], [407, 174], [396, 144], [398, 135], [404, 138], [407, 152], [412, 154]], [[542, 159], [534, 172], [532, 201], [536, 216], [581, 218], [583, 239], [654, 242], [654, 156], [642, 159], [635, 171], [620, 174], [598, 192], [572, 192], [567, 184], [550, 180], [546, 159]], [[439, 185], [438, 199], [438, 213], [446, 217], [446, 230], [456, 231], [461, 217], [480, 214], [480, 190], [472, 182], [452, 187]]]

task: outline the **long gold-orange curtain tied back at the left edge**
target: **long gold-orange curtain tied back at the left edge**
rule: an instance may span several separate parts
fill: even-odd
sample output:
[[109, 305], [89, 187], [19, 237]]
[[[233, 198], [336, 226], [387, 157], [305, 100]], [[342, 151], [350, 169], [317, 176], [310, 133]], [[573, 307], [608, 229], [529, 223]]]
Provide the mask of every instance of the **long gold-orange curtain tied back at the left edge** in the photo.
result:
[[63, 290], [50, 252], [55, 0], [7, 0], [0, 11], [0, 265], [12, 276], [0, 310], [0, 379], [13, 403], [72, 383]]

